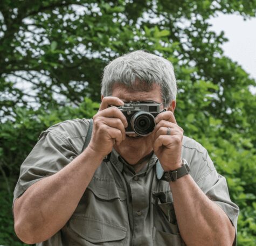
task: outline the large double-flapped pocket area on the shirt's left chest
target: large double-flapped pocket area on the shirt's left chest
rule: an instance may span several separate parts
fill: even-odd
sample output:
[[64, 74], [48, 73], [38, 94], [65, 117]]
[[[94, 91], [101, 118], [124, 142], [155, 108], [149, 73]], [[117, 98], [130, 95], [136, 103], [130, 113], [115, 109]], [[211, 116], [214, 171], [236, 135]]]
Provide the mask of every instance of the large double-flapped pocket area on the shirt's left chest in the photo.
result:
[[69, 245], [124, 245], [127, 228], [125, 191], [114, 179], [93, 177], [65, 233]]

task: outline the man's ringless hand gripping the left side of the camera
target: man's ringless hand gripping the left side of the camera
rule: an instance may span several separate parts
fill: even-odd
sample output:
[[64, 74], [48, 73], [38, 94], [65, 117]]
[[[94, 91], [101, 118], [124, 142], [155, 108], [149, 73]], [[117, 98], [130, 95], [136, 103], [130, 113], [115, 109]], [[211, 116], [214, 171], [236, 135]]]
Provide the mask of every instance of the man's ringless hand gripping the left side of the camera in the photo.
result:
[[117, 97], [103, 97], [100, 109], [93, 117], [93, 133], [88, 147], [102, 157], [112, 151], [115, 143], [119, 145], [126, 138], [126, 117], [118, 108], [109, 107], [122, 105], [123, 101]]

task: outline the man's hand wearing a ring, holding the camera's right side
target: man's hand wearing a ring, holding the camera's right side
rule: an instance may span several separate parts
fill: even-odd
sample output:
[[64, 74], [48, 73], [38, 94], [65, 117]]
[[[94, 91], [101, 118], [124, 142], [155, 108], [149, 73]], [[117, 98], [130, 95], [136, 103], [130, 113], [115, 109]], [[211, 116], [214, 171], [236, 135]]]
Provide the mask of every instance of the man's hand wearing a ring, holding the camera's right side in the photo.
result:
[[[183, 129], [177, 125], [171, 111], [165, 111], [157, 115], [155, 121], [153, 150], [164, 171], [175, 170], [182, 165]], [[167, 135], [168, 128], [170, 128], [170, 135]]]

